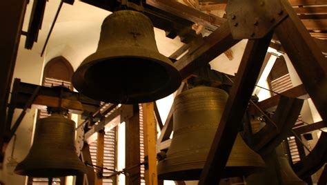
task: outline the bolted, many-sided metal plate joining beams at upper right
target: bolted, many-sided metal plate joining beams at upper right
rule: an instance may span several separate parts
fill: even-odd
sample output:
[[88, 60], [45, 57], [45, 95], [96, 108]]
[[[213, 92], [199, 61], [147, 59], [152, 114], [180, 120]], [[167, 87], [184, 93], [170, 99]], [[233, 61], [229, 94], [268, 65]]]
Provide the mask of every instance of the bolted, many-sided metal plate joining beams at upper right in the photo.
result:
[[226, 13], [234, 39], [261, 39], [287, 17], [278, 0], [229, 0]]

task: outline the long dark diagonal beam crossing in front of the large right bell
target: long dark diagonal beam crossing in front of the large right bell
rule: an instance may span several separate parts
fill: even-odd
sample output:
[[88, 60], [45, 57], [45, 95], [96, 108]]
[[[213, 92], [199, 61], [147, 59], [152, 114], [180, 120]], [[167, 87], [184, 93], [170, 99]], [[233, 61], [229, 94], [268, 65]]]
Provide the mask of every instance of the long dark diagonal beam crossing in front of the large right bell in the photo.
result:
[[249, 40], [246, 44], [235, 82], [199, 179], [201, 185], [218, 184], [221, 179], [272, 37], [273, 33], [270, 32], [263, 39]]

